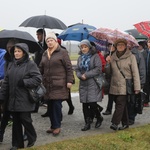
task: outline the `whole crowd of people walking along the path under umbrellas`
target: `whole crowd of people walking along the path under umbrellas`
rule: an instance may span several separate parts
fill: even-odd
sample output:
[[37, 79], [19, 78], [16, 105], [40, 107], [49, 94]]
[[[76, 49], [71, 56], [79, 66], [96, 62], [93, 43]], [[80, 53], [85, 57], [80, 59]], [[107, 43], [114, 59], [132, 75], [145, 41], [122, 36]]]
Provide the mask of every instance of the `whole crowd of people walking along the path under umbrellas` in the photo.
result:
[[[98, 75], [105, 73], [109, 83], [108, 105], [103, 115], [111, 114], [115, 103], [111, 129], [123, 130], [134, 124], [138, 113], [135, 103], [137, 97], [141, 98], [141, 91], [146, 93], [143, 105], [149, 106], [150, 40], [147, 43], [143, 42], [144, 46], [129, 48], [125, 39], [118, 39], [114, 44], [108, 43], [108, 54], [97, 50], [93, 42], [82, 40], [79, 44], [77, 66], [73, 70], [68, 52], [55, 33], [50, 32], [46, 35], [43, 29], [39, 29], [37, 38], [43, 50], [35, 53], [34, 61], [29, 58], [28, 45], [15, 39], [8, 41], [6, 52], [0, 51], [5, 62], [1, 65], [4, 73], [0, 74], [0, 103], [3, 108], [0, 142], [3, 142], [5, 128], [11, 118], [11, 150], [26, 147], [25, 136], [28, 140], [27, 147], [35, 144], [37, 134], [31, 114], [38, 112], [39, 106], [43, 104], [47, 105], [47, 111], [42, 117], [50, 118], [49, 129], [46, 132], [54, 136], [60, 134], [63, 119], [62, 102], [68, 103], [69, 115], [73, 114], [75, 109], [70, 93], [75, 83], [73, 71], [79, 79], [79, 100], [82, 103], [85, 121], [81, 131], [89, 130], [94, 118], [95, 128], [99, 128], [104, 120], [101, 114], [103, 108], [99, 102], [106, 93], [94, 79]], [[127, 81], [133, 84], [132, 93], [127, 91]], [[28, 89], [37, 87], [41, 82], [46, 88], [46, 94], [38, 103], [32, 103]]]

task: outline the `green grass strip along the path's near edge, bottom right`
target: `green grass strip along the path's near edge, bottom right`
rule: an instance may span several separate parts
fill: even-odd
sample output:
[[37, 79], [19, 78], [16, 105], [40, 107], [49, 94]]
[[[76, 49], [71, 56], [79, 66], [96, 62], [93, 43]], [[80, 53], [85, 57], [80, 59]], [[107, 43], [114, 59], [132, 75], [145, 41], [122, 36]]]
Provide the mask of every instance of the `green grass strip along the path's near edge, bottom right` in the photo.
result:
[[[88, 132], [88, 131], [87, 131]], [[28, 150], [149, 150], [150, 125], [54, 142]]]

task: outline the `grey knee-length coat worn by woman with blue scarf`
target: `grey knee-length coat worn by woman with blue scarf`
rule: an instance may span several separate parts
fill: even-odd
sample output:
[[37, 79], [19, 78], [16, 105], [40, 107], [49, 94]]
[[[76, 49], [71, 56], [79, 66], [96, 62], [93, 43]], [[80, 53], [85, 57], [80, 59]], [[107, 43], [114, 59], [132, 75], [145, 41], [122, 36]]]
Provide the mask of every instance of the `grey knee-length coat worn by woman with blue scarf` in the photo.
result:
[[93, 77], [102, 73], [102, 63], [98, 54], [94, 54], [90, 60], [90, 70], [85, 72], [86, 80], [82, 80], [80, 70], [81, 56], [78, 58], [76, 75], [80, 79], [79, 96], [81, 103], [99, 102], [102, 100], [102, 91], [97, 86]]

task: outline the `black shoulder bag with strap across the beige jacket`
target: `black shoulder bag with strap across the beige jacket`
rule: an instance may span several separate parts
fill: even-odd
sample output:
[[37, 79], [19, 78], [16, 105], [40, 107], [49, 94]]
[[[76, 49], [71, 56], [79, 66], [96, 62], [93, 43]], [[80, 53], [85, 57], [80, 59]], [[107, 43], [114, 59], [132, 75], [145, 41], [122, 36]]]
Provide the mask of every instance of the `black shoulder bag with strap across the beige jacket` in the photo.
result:
[[122, 76], [125, 78], [126, 80], [126, 91], [127, 94], [134, 94], [134, 84], [133, 84], [133, 79], [126, 79], [125, 75], [123, 74], [122, 70], [120, 69], [117, 61], [116, 61], [116, 65], [120, 71], [120, 73], [122, 74]]

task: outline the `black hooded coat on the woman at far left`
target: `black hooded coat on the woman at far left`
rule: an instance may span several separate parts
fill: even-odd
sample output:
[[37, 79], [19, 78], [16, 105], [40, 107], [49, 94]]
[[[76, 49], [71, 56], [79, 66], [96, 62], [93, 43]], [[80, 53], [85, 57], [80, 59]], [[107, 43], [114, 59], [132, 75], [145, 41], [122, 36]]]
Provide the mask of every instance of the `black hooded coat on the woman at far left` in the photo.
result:
[[[29, 60], [28, 47], [26, 47], [24, 43], [18, 43], [16, 45], [26, 54], [21, 61], [17, 62], [13, 60], [9, 63], [0, 91], [0, 99], [5, 100], [9, 95], [7, 103], [7, 109], [9, 111], [31, 112], [34, 110], [35, 104], [30, 102], [27, 88], [33, 88], [39, 85], [42, 81], [42, 76], [37, 65]], [[18, 86], [18, 81], [21, 79], [23, 79], [24, 82], [23, 87]]]

